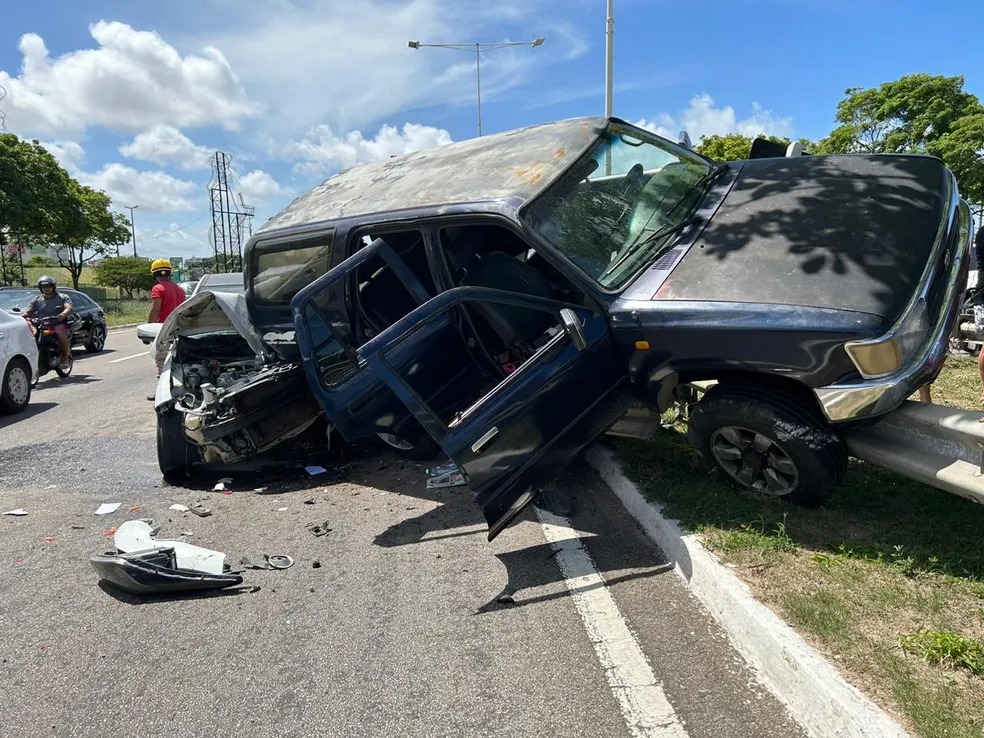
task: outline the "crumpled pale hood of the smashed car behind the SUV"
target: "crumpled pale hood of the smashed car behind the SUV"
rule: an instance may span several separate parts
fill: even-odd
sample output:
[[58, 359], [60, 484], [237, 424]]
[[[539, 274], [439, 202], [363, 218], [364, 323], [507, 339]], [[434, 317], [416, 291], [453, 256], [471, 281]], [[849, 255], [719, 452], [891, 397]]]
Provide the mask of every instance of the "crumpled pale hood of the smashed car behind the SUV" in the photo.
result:
[[258, 359], [268, 355], [249, 320], [246, 298], [228, 292], [199, 292], [182, 302], [161, 325], [150, 354], [163, 360], [175, 338], [220, 331], [235, 331], [241, 335]]

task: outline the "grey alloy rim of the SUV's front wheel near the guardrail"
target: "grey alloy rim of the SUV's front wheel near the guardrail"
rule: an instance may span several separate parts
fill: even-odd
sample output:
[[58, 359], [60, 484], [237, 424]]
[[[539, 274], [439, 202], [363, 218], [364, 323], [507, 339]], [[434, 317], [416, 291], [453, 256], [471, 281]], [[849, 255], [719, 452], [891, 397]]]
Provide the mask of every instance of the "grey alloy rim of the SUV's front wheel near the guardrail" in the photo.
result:
[[782, 497], [799, 484], [799, 471], [786, 450], [750, 428], [718, 428], [711, 436], [711, 454], [725, 474], [761, 494]]

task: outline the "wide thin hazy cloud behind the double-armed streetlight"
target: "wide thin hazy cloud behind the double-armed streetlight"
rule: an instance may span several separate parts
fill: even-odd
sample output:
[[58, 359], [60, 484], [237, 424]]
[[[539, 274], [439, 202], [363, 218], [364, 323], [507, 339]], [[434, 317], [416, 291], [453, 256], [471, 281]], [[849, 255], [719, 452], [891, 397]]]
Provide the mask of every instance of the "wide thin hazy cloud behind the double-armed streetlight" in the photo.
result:
[[[309, 0], [236, 4], [234, 26], [199, 32], [191, 43], [219, 46], [252, 91], [269, 104], [261, 125], [296, 134], [328, 123], [348, 130], [426, 105], [474, 105], [475, 58], [449, 49], [408, 48], [481, 38], [522, 17], [529, 36], [548, 24], [529, 18], [530, 0]], [[546, 3], [542, 3], [546, 5]], [[268, 7], [273, 5], [273, 7]], [[229, 7], [232, 7], [229, 5]], [[543, 10], [544, 17], [548, 11]], [[550, 16], [555, 13], [549, 13]], [[525, 35], [525, 33], [524, 33]], [[523, 40], [512, 38], [502, 40]], [[494, 101], [529, 79], [536, 65], [583, 53], [573, 32], [547, 38], [543, 49], [504, 48], [482, 55], [483, 101]], [[303, 72], [299, 72], [303, 70]]]

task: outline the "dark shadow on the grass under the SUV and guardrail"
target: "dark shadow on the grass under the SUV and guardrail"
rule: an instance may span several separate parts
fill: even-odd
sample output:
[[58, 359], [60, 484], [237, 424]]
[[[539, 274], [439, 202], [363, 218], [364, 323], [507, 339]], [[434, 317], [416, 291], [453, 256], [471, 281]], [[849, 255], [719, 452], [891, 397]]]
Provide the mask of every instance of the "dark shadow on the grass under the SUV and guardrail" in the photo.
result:
[[763, 546], [883, 562], [907, 575], [984, 578], [984, 506], [852, 459], [819, 509], [744, 494], [705, 466], [682, 433], [612, 444], [622, 469], [665, 517]]

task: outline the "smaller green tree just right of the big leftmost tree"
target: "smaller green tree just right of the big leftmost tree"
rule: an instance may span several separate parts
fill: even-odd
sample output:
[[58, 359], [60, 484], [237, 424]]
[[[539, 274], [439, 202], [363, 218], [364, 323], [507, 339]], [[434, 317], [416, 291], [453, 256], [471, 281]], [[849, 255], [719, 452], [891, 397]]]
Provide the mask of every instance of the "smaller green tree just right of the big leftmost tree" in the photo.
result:
[[72, 209], [53, 234], [55, 260], [68, 270], [79, 288], [85, 265], [122, 246], [130, 239], [130, 221], [109, 209], [109, 196], [72, 180]]

